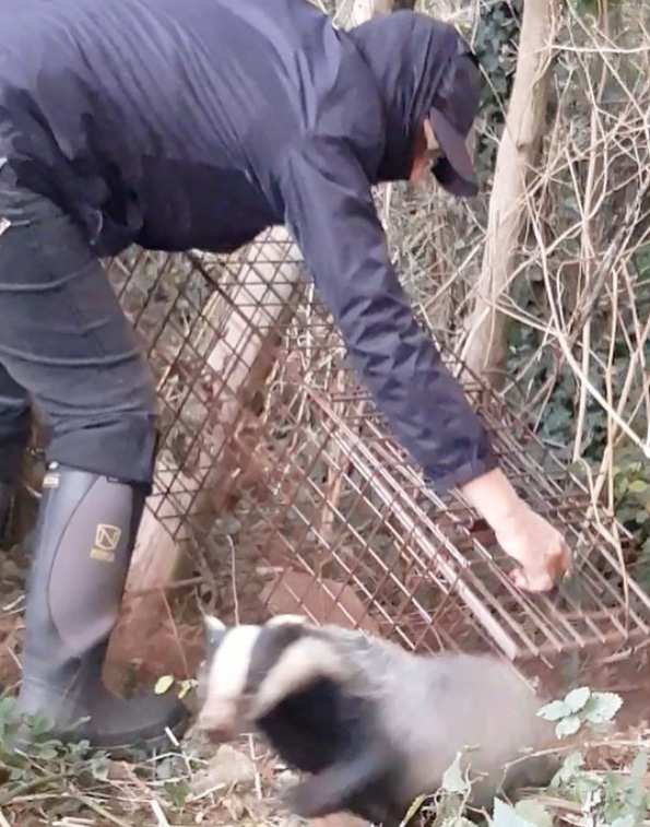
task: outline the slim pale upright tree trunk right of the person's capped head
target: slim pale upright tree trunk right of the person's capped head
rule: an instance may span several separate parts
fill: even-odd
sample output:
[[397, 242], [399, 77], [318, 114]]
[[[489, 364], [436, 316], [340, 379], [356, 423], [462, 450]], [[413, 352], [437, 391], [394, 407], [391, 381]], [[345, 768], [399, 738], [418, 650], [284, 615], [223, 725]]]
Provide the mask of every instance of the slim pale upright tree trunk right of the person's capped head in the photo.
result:
[[525, 0], [512, 95], [496, 157], [481, 274], [465, 324], [462, 358], [493, 387], [503, 383], [506, 316], [497, 309], [517, 267], [525, 192], [537, 160], [548, 101], [557, 0]]

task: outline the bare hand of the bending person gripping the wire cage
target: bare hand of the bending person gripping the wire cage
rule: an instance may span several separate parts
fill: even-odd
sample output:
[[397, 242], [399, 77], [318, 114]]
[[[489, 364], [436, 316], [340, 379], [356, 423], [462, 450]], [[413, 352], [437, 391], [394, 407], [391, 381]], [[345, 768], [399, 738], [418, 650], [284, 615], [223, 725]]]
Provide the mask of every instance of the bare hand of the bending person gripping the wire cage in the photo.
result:
[[564, 536], [518, 496], [499, 469], [472, 480], [462, 492], [519, 564], [510, 572], [516, 586], [545, 592], [570, 574], [571, 552]]

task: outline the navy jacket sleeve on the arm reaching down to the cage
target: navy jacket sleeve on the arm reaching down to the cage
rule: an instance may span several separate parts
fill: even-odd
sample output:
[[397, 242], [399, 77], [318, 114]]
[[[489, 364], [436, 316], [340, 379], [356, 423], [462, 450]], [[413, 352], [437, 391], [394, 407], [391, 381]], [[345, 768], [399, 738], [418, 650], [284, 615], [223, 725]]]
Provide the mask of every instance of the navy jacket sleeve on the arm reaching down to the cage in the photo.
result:
[[415, 321], [356, 157], [338, 142], [303, 147], [281, 189], [286, 226], [352, 366], [426, 483], [445, 494], [495, 468], [482, 423]]

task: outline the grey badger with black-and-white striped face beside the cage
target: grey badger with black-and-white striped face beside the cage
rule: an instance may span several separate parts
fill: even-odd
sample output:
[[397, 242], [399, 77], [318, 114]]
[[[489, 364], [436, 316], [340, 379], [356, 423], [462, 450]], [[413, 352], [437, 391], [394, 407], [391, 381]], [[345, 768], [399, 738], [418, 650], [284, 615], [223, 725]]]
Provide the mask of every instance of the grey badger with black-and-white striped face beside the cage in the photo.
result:
[[413, 654], [299, 615], [229, 628], [206, 617], [205, 628], [198, 729], [216, 744], [262, 734], [308, 773], [285, 795], [303, 818], [346, 811], [395, 827], [459, 754], [475, 810], [499, 791], [545, 785], [556, 769], [542, 701], [506, 660]]

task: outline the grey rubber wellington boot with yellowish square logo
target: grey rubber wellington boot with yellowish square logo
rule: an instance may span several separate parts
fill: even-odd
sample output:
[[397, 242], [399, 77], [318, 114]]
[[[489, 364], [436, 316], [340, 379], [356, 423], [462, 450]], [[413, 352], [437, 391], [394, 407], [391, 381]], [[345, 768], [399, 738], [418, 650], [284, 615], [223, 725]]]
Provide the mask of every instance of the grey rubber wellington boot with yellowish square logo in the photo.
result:
[[[169, 749], [166, 730], [179, 737], [188, 722], [173, 693], [126, 700], [102, 682], [143, 506], [135, 486], [51, 464], [34, 533], [19, 710], [114, 756]], [[28, 745], [28, 728], [17, 741]]]

